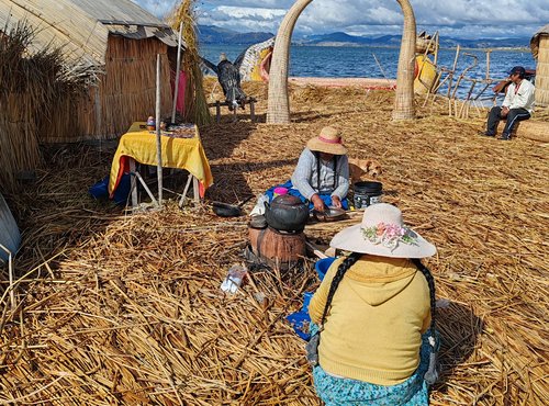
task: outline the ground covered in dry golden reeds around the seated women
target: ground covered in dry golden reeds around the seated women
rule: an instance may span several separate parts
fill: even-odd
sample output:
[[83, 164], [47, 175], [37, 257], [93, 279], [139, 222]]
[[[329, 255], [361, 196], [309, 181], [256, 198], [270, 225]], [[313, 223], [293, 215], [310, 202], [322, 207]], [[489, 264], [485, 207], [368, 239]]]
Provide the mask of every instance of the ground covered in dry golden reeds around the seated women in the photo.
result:
[[[245, 90], [265, 121], [265, 84]], [[394, 122], [390, 91], [290, 87], [290, 97], [296, 120], [276, 129], [232, 117], [201, 127], [215, 179], [208, 198], [235, 203], [287, 180], [306, 140], [337, 125], [351, 156], [382, 163], [383, 199], [438, 247], [427, 266], [444, 372], [432, 405], [544, 405], [549, 194], [537, 174], [549, 170], [547, 144], [479, 137], [482, 121], [448, 117], [446, 103]], [[82, 190], [112, 151], [74, 148], [48, 154], [41, 181], [10, 196], [29, 208], [14, 213], [19, 307], [0, 285], [1, 402], [320, 405], [304, 341], [284, 320], [318, 283], [313, 260], [303, 272], [255, 270], [225, 296], [245, 216], [176, 204], [125, 216]], [[305, 234], [327, 244], [333, 225]]]

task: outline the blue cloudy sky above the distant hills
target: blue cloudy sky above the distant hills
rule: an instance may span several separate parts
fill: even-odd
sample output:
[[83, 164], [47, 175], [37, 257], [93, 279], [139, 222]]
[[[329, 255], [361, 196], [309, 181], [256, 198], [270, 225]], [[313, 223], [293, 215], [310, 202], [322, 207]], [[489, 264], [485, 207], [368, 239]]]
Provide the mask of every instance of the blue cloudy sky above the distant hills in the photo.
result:
[[[163, 19], [178, 0], [132, 0]], [[195, 0], [198, 23], [237, 32], [276, 34], [295, 0]], [[410, 0], [417, 31], [440, 37], [531, 37], [549, 23], [549, 0]], [[345, 32], [350, 35], [402, 34], [395, 0], [314, 0], [301, 13], [294, 37]]]

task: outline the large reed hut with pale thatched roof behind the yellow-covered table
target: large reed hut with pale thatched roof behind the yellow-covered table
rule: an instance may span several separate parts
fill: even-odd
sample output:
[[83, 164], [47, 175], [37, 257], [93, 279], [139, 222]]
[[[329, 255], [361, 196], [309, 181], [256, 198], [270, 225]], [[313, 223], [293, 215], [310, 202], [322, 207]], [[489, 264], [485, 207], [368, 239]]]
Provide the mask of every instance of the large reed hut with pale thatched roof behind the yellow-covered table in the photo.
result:
[[133, 121], [154, 113], [157, 54], [161, 55], [161, 111], [169, 114], [169, 59], [173, 63], [177, 55], [177, 36], [134, 2], [0, 0], [0, 34], [21, 21], [35, 30], [31, 54], [59, 48], [70, 67], [67, 74], [86, 75], [89, 83], [82, 97], [58, 98], [48, 106], [49, 120], [37, 128], [38, 142], [115, 137]]

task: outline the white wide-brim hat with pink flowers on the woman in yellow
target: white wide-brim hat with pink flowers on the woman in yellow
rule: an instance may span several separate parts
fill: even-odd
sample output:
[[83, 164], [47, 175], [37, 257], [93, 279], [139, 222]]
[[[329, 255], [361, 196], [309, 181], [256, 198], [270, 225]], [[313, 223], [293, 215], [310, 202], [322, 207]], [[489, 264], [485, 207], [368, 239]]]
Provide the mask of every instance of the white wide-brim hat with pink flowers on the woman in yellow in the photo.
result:
[[402, 221], [401, 211], [388, 203], [365, 210], [362, 223], [337, 233], [329, 245], [346, 251], [392, 258], [426, 258], [436, 247]]

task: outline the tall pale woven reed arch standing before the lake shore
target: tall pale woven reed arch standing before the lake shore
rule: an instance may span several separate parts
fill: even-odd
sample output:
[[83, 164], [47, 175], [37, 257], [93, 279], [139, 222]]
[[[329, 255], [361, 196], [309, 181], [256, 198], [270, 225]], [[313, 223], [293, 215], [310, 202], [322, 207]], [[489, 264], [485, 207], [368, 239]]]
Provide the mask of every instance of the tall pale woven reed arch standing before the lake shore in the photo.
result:
[[[290, 123], [290, 100], [288, 97], [288, 61], [293, 29], [298, 18], [313, 0], [298, 0], [285, 14], [277, 33], [269, 72], [269, 97], [267, 123]], [[396, 71], [396, 91], [393, 120], [415, 117], [414, 109], [414, 61], [416, 24], [408, 0], [396, 0], [404, 14], [404, 29]]]

